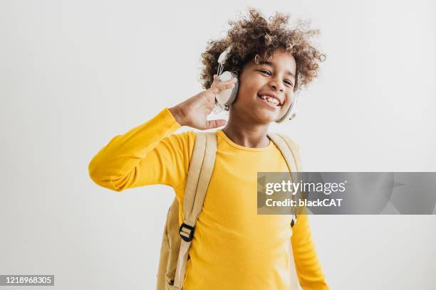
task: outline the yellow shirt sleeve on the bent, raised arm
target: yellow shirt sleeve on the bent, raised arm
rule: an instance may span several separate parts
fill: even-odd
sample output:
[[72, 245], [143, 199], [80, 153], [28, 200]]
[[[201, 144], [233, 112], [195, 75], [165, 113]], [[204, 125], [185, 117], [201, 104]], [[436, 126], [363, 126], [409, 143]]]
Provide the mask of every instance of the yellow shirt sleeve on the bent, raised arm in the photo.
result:
[[152, 184], [177, 188], [187, 177], [195, 134], [172, 134], [181, 126], [169, 109], [115, 136], [88, 165], [90, 178], [118, 192]]

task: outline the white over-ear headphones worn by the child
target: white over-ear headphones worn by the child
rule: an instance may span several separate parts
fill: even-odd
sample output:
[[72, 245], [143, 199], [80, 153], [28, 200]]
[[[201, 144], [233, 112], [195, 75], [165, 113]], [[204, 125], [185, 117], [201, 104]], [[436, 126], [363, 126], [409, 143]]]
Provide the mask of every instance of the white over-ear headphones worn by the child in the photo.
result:
[[[226, 50], [224, 50], [219, 55], [218, 58], [217, 75], [219, 77], [220, 82], [232, 80], [232, 78], [234, 77], [237, 78], [237, 75], [232, 72], [229, 72], [227, 70], [223, 72], [224, 63], [226, 62], [227, 58], [229, 58], [230, 50], [232, 50], [232, 45], [230, 45]], [[238, 95], [238, 88], [239, 88], [239, 80], [237, 80], [234, 83], [234, 87], [232, 89], [223, 90], [219, 92], [215, 97], [217, 102], [223, 106], [229, 106], [230, 104], [232, 104], [232, 102], [236, 100], [236, 97]], [[289, 107], [288, 111], [286, 111], [286, 114], [284, 114], [284, 116], [281, 117], [280, 119], [276, 120], [277, 123], [284, 122], [284, 120], [286, 120], [287, 118], [289, 118], [290, 120], [294, 119], [297, 113], [296, 103], [298, 99], [299, 99], [299, 91], [297, 91], [294, 94], [294, 102], [292, 102], [291, 107]]]

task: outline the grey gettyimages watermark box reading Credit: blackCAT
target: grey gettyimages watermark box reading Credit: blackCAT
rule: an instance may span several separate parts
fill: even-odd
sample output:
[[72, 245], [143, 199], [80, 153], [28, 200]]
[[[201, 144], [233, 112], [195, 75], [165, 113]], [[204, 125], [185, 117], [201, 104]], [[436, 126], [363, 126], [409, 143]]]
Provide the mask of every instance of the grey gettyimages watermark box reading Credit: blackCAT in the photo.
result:
[[436, 172], [259, 172], [259, 215], [434, 215]]

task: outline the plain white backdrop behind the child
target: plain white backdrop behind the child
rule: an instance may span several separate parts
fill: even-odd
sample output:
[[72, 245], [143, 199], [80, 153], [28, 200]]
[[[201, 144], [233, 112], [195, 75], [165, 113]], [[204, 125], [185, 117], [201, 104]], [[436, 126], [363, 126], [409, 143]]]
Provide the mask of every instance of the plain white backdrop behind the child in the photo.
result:
[[[116, 193], [88, 163], [202, 90], [207, 41], [247, 7], [321, 30], [318, 80], [294, 122], [271, 127], [299, 141], [306, 171], [436, 171], [430, 0], [1, 1], [0, 274], [155, 288], [172, 188]], [[331, 289], [434, 289], [436, 215], [310, 220]]]

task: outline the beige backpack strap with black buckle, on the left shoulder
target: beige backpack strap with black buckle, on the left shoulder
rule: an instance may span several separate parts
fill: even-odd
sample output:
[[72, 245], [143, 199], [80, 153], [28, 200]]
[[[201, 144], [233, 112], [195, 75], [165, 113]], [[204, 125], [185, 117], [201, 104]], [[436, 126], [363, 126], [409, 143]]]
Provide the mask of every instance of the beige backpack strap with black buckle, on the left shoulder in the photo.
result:
[[197, 132], [196, 135], [183, 198], [183, 223], [180, 226], [182, 241], [175, 272], [175, 289], [182, 289], [183, 287], [187, 257], [194, 236], [195, 223], [202, 211], [204, 197], [217, 157], [217, 134], [215, 132]]

